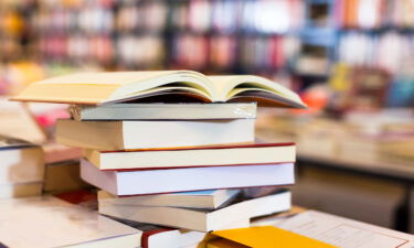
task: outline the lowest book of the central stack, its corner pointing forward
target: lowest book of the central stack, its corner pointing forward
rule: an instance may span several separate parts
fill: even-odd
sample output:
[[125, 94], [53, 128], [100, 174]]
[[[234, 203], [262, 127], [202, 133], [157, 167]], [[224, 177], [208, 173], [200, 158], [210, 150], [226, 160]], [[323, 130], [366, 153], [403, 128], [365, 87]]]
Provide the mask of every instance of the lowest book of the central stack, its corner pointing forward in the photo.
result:
[[[242, 202], [235, 201], [235, 203], [231, 203], [227, 206], [214, 211], [181, 207], [130, 206], [99, 202], [99, 213], [104, 215], [200, 231], [247, 227], [250, 225], [250, 219], [253, 217], [284, 212], [289, 208], [290, 192], [287, 191]], [[231, 223], [243, 219], [246, 219], [245, 225], [229, 226]]]

